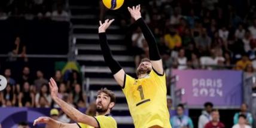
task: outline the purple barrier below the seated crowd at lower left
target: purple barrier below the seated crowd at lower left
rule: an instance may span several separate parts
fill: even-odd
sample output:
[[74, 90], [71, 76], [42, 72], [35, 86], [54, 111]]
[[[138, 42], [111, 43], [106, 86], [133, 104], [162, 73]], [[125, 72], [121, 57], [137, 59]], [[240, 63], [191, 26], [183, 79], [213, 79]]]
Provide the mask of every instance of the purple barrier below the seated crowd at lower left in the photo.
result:
[[[51, 108], [0, 108], [0, 124], [2, 128], [14, 128], [20, 122], [29, 123], [33, 127], [33, 121], [42, 116], [50, 116]], [[85, 112], [85, 108], [79, 109]], [[44, 124], [39, 124], [35, 127], [45, 127]]]

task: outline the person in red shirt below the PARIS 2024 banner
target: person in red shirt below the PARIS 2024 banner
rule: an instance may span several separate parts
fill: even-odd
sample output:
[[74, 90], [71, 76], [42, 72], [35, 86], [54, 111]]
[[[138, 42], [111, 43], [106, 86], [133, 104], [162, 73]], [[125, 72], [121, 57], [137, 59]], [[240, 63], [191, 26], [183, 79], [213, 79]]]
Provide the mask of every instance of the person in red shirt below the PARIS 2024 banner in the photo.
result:
[[212, 120], [205, 125], [205, 128], [224, 128], [224, 124], [220, 122], [220, 113], [217, 109], [211, 112]]

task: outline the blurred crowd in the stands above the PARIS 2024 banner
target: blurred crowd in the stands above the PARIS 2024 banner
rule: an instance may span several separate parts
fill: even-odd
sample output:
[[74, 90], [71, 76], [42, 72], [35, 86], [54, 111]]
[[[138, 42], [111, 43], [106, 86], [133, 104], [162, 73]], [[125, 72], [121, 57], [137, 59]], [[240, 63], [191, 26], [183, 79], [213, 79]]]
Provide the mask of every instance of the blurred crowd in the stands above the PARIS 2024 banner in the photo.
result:
[[[256, 69], [256, 8], [242, 1], [153, 0], [142, 16], [159, 45], [165, 68]], [[134, 22], [131, 19], [132, 23]], [[148, 56], [138, 28], [131, 36], [135, 64]]]

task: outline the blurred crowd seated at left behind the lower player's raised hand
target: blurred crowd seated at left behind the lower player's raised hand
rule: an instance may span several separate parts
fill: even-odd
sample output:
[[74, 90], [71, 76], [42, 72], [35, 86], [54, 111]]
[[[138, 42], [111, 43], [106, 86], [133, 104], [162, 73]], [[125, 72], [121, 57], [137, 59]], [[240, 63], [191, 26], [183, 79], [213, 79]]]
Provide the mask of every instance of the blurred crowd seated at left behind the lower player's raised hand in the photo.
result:
[[[11, 72], [10, 68], [4, 71], [8, 84], [6, 89], [0, 92], [0, 106], [59, 108], [51, 99], [48, 79], [42, 71], [31, 74], [30, 68], [25, 66], [19, 78], [12, 77]], [[77, 71], [66, 71], [62, 74], [62, 71], [58, 70], [53, 78], [59, 86], [60, 98], [75, 107], [86, 107], [86, 95], [83, 93], [81, 77]]]

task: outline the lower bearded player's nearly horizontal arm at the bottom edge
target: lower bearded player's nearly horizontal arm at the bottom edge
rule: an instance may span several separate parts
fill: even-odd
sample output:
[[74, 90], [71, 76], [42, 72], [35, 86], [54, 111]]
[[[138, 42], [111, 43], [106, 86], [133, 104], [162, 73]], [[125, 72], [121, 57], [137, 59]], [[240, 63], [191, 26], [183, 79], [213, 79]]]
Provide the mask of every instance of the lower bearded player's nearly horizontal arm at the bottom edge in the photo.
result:
[[33, 126], [36, 124], [47, 124], [48, 127], [57, 127], [57, 128], [79, 128], [78, 124], [68, 124], [68, 123], [62, 123], [57, 120], [53, 120], [50, 117], [39, 117], [33, 122]]

